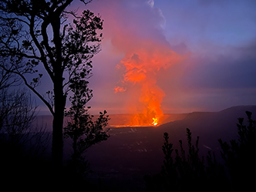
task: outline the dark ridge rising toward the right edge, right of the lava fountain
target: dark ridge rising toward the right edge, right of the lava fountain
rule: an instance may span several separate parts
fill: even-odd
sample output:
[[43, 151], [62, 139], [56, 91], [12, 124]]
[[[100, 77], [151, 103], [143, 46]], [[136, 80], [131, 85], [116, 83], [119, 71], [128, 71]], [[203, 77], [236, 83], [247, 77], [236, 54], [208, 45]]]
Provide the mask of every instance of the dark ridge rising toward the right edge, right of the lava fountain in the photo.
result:
[[185, 129], [189, 128], [194, 140], [200, 136], [200, 143], [214, 150], [219, 147], [218, 139], [230, 141], [237, 138], [237, 118], [244, 118], [246, 124], [246, 111], [250, 111], [252, 119], [256, 120], [256, 106], [232, 106], [219, 112], [188, 113], [183, 120], [165, 123], [159, 128], [175, 135], [175, 138], [170, 136], [173, 141], [178, 138], [186, 140]]

